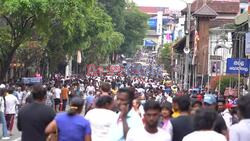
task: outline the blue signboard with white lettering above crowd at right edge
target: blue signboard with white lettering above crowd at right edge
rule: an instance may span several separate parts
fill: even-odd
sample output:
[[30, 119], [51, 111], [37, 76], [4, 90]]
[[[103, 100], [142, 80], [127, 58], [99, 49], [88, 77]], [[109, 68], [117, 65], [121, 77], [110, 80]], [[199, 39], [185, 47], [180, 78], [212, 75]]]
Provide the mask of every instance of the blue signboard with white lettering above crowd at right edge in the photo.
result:
[[249, 74], [250, 59], [245, 58], [228, 58], [227, 59], [227, 73], [238, 74], [239, 69], [241, 74]]

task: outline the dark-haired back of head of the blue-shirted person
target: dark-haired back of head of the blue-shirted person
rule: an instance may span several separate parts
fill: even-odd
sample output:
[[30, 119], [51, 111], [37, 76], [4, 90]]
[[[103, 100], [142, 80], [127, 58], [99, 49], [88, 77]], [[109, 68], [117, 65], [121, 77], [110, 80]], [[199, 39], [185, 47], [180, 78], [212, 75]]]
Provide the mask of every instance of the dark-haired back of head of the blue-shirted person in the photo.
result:
[[82, 111], [84, 100], [80, 97], [74, 97], [71, 100], [68, 115], [73, 116]]

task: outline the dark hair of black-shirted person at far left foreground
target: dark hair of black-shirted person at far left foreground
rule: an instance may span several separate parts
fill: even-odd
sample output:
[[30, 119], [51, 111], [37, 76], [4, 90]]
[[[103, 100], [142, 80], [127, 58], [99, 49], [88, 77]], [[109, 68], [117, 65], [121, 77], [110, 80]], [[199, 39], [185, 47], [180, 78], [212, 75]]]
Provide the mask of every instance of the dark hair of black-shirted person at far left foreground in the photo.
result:
[[34, 100], [42, 100], [45, 98], [47, 93], [46, 88], [44, 88], [42, 85], [35, 85], [32, 88], [32, 96]]

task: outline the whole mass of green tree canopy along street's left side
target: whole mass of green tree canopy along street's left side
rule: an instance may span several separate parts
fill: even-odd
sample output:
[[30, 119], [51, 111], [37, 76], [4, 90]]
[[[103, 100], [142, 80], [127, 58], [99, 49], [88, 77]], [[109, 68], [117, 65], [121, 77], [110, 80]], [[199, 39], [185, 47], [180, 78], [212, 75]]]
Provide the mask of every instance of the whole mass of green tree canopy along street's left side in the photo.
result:
[[114, 51], [133, 54], [145, 36], [146, 21], [125, 0], [1, 0], [0, 80], [13, 58], [24, 59], [20, 54], [29, 51], [30, 42], [54, 69], [79, 50], [88, 62], [99, 63]]

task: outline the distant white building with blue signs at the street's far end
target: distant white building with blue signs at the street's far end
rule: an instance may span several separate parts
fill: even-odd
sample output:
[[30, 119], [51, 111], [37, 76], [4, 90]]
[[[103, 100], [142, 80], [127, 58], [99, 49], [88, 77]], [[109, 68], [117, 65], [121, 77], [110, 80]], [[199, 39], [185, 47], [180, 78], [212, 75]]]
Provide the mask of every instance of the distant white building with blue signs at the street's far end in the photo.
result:
[[171, 43], [178, 38], [179, 34], [176, 34], [175, 29], [180, 12], [170, 10], [168, 7], [140, 6], [139, 10], [150, 16], [148, 20], [149, 30], [145, 38], [145, 42], [149, 44], [145, 44], [145, 46], [154, 45], [157, 50], [161, 45]]

